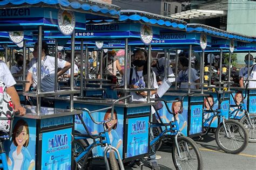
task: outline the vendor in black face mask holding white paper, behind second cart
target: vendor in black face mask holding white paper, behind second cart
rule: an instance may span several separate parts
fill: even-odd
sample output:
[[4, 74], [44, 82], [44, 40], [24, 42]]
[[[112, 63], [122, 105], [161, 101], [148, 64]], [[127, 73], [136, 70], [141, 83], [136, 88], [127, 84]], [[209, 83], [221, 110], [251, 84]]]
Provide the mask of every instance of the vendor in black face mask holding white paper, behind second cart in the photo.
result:
[[[147, 84], [150, 81], [151, 87], [150, 88], [158, 88], [158, 84], [156, 81], [156, 74], [151, 70], [151, 79], [147, 79], [147, 52], [144, 49], [136, 49], [136, 51], [133, 52], [134, 60], [133, 65], [134, 68], [127, 69], [127, 77], [128, 77], [128, 84], [129, 88], [149, 88]], [[120, 83], [120, 86], [124, 86], [124, 77], [123, 80]], [[150, 91], [150, 96], [152, 98], [155, 97], [157, 90]], [[131, 92], [131, 101], [147, 101], [147, 91], [138, 91], [138, 92]], [[155, 111], [153, 107], [151, 108], [151, 114], [154, 114]], [[152, 138], [152, 135], [151, 135]], [[152, 169], [159, 169], [159, 165], [156, 161], [156, 154], [151, 155], [148, 158], [149, 166]], [[139, 164], [141, 165], [141, 164]], [[139, 166], [138, 166], [139, 167]]]

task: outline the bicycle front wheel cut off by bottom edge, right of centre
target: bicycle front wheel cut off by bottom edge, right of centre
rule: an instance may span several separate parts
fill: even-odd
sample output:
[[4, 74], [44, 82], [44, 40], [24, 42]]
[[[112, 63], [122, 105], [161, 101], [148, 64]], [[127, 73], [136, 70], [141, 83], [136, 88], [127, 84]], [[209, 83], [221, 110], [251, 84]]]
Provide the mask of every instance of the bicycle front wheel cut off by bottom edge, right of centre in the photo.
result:
[[172, 147], [172, 160], [176, 169], [203, 169], [203, 159], [197, 144], [188, 137], [178, 138], [180, 157], [175, 144]]

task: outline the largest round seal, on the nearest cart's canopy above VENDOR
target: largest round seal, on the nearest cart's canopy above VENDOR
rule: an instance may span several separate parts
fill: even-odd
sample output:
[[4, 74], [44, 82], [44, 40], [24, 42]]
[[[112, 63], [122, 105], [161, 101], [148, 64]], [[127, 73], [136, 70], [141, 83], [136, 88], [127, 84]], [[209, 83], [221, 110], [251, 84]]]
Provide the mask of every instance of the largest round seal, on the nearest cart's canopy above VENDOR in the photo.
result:
[[65, 36], [70, 36], [75, 30], [76, 19], [73, 11], [59, 10], [58, 26], [59, 31]]

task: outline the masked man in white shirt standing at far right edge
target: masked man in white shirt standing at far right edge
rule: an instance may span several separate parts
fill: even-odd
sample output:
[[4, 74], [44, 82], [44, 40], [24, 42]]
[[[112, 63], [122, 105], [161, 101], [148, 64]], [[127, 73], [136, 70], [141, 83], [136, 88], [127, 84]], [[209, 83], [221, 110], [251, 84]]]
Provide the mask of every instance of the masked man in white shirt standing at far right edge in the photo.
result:
[[248, 61], [249, 55], [245, 55], [245, 67], [240, 69], [240, 73], [239, 73], [239, 86], [240, 87], [244, 87], [244, 80], [247, 80], [247, 76], [248, 76], [248, 65], [250, 66], [249, 69], [249, 79], [250, 80], [254, 80], [254, 81], [250, 81], [250, 83], [248, 84], [249, 88], [255, 88], [256, 87], [256, 67], [254, 67], [255, 65], [253, 64], [253, 56], [250, 54], [250, 61]]

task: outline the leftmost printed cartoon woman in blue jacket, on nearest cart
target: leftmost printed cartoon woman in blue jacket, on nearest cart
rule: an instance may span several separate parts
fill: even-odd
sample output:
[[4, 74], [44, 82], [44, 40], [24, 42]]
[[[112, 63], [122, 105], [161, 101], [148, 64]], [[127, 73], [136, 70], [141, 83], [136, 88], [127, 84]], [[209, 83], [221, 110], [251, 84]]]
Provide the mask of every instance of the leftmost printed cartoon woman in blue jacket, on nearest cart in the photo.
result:
[[14, 126], [12, 142], [15, 145], [11, 148], [8, 158], [8, 165], [11, 169], [33, 169], [33, 160], [28, 150], [29, 145], [29, 126], [23, 119], [20, 119]]

